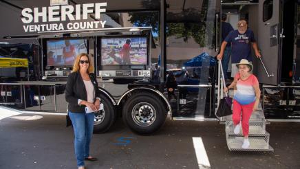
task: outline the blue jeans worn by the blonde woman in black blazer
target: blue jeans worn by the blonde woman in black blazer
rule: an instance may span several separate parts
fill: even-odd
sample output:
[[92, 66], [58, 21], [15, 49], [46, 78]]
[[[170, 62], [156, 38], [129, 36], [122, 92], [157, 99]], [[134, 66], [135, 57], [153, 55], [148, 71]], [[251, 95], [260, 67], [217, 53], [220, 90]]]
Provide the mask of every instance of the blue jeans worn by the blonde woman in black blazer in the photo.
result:
[[85, 166], [85, 158], [89, 157], [89, 144], [93, 135], [94, 113], [72, 113], [69, 118], [74, 128], [74, 146], [77, 166]]

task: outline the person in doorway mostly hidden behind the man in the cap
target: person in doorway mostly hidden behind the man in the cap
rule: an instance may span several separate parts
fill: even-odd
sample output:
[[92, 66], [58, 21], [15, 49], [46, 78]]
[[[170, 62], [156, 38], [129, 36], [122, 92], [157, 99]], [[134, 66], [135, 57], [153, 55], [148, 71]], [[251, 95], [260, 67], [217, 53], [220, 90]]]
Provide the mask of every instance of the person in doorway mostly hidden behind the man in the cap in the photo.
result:
[[[222, 42], [224, 41], [226, 36], [231, 31], [233, 31], [233, 26], [231, 26], [230, 23], [226, 22], [226, 19], [227, 19], [227, 15], [222, 14], [222, 17], [221, 17]], [[228, 63], [229, 63], [230, 58], [231, 58], [231, 43], [227, 43], [227, 45], [224, 49], [224, 56], [222, 58], [222, 66], [223, 66], [225, 80], [228, 80], [227, 70], [228, 70]]]

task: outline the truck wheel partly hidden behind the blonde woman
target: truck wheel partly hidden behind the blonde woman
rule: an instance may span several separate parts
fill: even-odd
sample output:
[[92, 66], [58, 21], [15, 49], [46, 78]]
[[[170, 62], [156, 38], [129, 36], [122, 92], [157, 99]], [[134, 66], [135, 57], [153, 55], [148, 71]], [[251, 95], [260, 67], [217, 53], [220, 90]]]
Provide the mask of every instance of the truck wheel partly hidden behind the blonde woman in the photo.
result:
[[95, 113], [94, 133], [105, 133], [108, 131], [117, 117], [114, 105], [105, 96], [100, 97], [100, 99], [104, 110]]

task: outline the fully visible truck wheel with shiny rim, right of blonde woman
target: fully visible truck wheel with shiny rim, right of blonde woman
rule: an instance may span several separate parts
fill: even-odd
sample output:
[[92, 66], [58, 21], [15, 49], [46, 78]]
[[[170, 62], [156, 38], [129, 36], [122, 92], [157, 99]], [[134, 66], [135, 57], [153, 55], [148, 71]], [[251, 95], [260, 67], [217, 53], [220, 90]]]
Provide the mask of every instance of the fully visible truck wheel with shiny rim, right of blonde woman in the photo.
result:
[[151, 93], [133, 95], [122, 111], [123, 120], [131, 131], [139, 134], [150, 134], [164, 124], [167, 111], [162, 100]]

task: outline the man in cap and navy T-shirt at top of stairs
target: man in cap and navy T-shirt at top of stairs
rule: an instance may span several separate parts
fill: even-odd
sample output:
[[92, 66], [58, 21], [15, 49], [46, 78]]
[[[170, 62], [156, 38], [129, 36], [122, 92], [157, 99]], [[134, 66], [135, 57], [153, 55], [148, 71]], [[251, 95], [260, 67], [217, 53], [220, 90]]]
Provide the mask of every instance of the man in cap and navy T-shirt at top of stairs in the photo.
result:
[[257, 58], [261, 57], [253, 31], [248, 29], [245, 20], [239, 21], [237, 23], [237, 30], [230, 32], [228, 36], [226, 36], [221, 45], [221, 50], [217, 55], [217, 59], [222, 60], [227, 43], [231, 43], [231, 77], [234, 77], [237, 73], [236, 64], [239, 63], [239, 61], [247, 59], [249, 62], [252, 62], [250, 43], [255, 50], [255, 56], [257, 56]]

